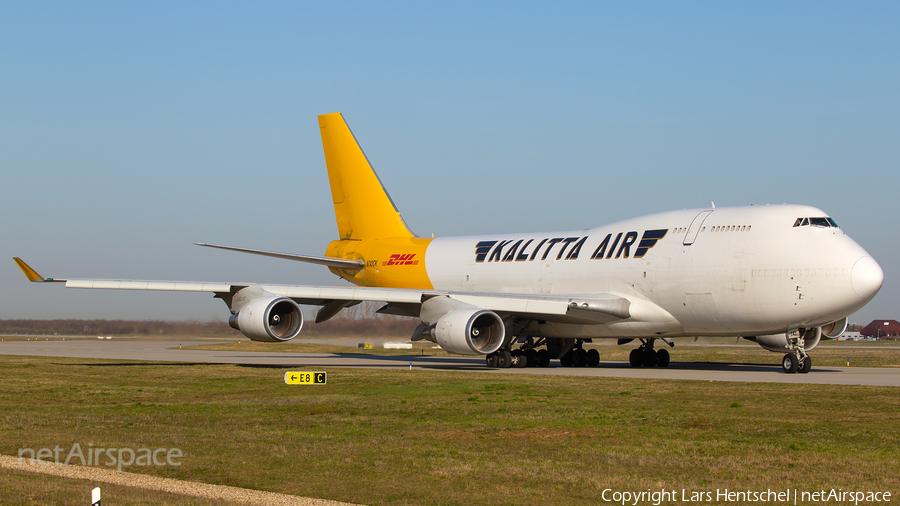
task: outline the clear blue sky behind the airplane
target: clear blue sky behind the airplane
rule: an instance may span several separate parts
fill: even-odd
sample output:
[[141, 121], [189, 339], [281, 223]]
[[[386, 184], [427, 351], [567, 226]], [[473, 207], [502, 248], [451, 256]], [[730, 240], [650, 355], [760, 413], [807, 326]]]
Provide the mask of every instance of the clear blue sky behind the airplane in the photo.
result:
[[[316, 115], [420, 235], [670, 209], [824, 209], [900, 318], [900, 4], [21, 2], [0, 6], [0, 318], [224, 318], [46, 276], [334, 284]], [[777, 247], [777, 245], [773, 245]]]

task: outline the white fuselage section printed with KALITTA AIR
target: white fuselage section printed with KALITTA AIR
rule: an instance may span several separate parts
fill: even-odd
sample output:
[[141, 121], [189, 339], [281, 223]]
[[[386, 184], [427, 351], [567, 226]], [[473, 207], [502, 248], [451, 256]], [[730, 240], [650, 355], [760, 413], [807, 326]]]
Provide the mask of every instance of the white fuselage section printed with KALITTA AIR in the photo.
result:
[[630, 318], [608, 324], [542, 322], [547, 337], [771, 334], [849, 316], [881, 287], [881, 268], [840, 228], [794, 226], [827, 216], [798, 205], [693, 209], [590, 230], [438, 238], [426, 269], [439, 290], [633, 301]]

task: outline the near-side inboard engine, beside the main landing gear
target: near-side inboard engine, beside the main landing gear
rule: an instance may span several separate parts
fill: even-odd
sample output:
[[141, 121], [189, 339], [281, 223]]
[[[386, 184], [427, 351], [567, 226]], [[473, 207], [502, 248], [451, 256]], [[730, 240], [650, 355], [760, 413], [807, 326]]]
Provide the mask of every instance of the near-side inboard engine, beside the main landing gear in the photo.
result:
[[432, 332], [441, 348], [459, 355], [493, 353], [506, 337], [503, 320], [486, 309], [451, 311], [438, 319]]

